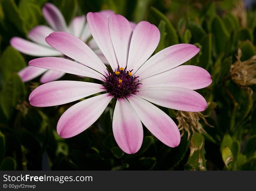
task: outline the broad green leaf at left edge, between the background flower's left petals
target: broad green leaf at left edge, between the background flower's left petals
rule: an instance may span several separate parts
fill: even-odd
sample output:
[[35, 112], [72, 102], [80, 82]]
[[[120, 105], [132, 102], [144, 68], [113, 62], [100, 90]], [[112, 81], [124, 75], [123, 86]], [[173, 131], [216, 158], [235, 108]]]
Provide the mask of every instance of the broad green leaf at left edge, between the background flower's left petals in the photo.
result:
[[14, 72], [19, 72], [26, 66], [21, 53], [15, 50], [13, 47], [8, 46], [2, 54], [0, 73], [3, 81], [6, 81]]

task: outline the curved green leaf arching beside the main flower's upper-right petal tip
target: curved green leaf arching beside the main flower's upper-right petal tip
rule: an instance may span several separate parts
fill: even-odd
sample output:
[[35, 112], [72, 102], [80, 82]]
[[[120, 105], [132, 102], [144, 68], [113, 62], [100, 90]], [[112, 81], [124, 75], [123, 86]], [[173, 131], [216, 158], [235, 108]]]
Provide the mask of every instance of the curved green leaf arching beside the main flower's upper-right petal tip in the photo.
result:
[[150, 13], [148, 15], [148, 20], [150, 23], [158, 26], [160, 21], [163, 20], [166, 23], [166, 41], [167, 41], [167, 46], [169, 47], [174, 44], [178, 44], [178, 35], [173, 28], [173, 25], [170, 23], [169, 19], [166, 18], [166, 16], [161, 13], [159, 10], [157, 10], [154, 7], [150, 8]]

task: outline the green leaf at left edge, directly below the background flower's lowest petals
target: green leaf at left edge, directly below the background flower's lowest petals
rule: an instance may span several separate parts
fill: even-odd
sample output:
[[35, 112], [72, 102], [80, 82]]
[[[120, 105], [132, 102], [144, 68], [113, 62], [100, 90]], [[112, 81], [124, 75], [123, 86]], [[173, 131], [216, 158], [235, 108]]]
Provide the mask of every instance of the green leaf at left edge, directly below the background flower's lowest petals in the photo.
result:
[[25, 95], [26, 89], [21, 78], [17, 74], [10, 76], [0, 92], [0, 105], [7, 118], [10, 118], [14, 107], [20, 100], [24, 99]]

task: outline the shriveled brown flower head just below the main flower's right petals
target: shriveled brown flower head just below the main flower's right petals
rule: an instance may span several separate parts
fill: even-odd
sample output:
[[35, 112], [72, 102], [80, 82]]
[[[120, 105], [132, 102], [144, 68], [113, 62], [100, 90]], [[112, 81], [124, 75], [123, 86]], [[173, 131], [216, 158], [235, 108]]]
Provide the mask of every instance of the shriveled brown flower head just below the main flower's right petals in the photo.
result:
[[201, 112], [189, 112], [189, 111], [178, 111], [176, 114], [176, 119], [178, 120], [178, 128], [181, 131], [181, 136], [184, 135], [185, 131], [188, 132], [188, 139], [192, 133], [198, 131], [200, 134], [206, 133], [202, 127], [202, 124], [199, 122], [200, 119], [210, 127], [210, 124], [206, 121], [206, 115], [203, 115]]

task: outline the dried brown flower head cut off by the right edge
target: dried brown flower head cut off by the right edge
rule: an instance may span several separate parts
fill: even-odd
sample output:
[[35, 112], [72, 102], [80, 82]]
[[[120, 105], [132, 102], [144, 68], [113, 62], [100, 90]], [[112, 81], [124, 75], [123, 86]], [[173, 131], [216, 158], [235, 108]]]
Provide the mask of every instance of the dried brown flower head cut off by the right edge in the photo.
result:
[[252, 94], [253, 91], [248, 86], [256, 84], [256, 55], [241, 62], [242, 51], [238, 49], [237, 52], [237, 60], [230, 67], [231, 79], [237, 85], [247, 89]]

